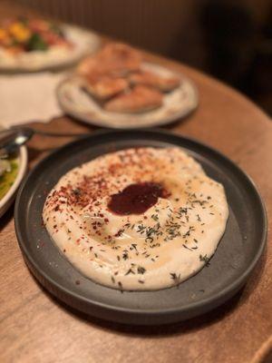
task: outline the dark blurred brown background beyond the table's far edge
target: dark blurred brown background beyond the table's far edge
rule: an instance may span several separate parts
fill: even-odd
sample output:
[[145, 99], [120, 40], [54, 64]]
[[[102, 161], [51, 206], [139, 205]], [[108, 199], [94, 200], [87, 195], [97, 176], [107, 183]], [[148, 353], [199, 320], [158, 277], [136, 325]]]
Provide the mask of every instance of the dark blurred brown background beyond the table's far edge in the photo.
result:
[[272, 114], [270, 0], [13, 0], [189, 64]]

